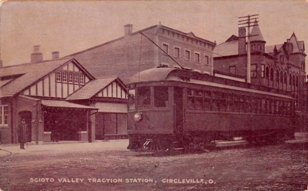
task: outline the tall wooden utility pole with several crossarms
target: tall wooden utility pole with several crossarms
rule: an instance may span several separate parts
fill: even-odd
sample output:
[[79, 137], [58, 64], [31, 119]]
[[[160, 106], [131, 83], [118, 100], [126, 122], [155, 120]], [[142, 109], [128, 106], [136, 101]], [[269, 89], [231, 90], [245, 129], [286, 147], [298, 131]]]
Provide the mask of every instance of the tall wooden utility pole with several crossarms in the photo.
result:
[[[259, 14], [238, 17], [238, 18], [246, 18], [244, 20], [239, 20], [239, 25], [246, 25], [246, 26], [239, 27], [239, 29], [240, 28], [246, 28], [246, 27], [248, 29], [247, 30], [248, 31], [247, 36], [244, 36], [244, 37], [247, 37], [247, 78], [246, 78], [247, 83], [251, 83], [251, 46], [250, 46], [249, 37], [257, 36], [257, 35], [250, 35], [250, 27], [258, 26], [257, 18], [259, 18], [259, 17], [254, 17], [254, 16], [258, 16], [258, 15]], [[254, 18], [252, 18], [252, 17], [254, 17]], [[256, 20], [254, 22], [251, 22], [252, 19], [256, 19]]]

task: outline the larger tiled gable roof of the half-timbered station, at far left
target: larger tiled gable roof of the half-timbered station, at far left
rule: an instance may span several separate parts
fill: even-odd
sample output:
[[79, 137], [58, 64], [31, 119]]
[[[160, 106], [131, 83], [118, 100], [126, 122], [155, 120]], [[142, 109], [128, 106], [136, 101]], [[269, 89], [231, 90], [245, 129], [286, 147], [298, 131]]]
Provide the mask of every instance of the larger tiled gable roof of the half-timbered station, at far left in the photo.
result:
[[[46, 60], [39, 63], [25, 63], [22, 65], [0, 68], [1, 77], [21, 74], [21, 76], [12, 79], [11, 81], [3, 84], [3, 86], [0, 87], [0, 97], [12, 97], [18, 94], [22, 90], [31, 86], [37, 80], [45, 77], [52, 71], [72, 60], [74, 60], [74, 62], [78, 66], [83, 68], [77, 60], [71, 57]], [[90, 74], [89, 76], [93, 78]]]

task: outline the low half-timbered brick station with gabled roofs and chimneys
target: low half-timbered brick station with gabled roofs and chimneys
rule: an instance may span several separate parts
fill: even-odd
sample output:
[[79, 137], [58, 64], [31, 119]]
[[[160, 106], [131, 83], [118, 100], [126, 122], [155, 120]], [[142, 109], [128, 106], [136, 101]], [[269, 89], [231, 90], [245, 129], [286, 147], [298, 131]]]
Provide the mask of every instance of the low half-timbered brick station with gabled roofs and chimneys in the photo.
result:
[[[0, 68], [1, 143], [18, 142], [17, 126], [21, 119], [26, 119], [28, 125], [28, 142], [91, 142], [95, 139], [93, 114], [102, 109], [107, 113], [108, 108], [104, 104], [110, 108], [117, 101], [126, 101], [125, 86], [118, 86], [120, 79], [109, 79], [112, 85], [109, 87], [109, 83], [95, 79], [75, 58], [59, 58], [59, 52], [53, 52], [52, 57], [52, 60], [43, 60], [40, 46], [34, 46], [30, 63]], [[85, 104], [90, 102], [87, 99], [83, 104], [66, 100], [74, 93], [80, 95], [79, 90], [83, 88], [117, 91], [113, 94], [98, 93], [99, 98], [94, 105]], [[124, 123], [123, 120], [121, 122]], [[125, 129], [123, 125], [121, 128]]]

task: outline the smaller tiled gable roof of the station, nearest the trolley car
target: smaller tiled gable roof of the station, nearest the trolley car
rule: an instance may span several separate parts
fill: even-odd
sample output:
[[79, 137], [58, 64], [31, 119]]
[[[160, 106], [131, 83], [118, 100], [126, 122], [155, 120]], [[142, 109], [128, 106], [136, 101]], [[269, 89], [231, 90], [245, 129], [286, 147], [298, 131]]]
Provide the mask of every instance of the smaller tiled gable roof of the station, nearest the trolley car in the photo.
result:
[[124, 83], [118, 77], [105, 77], [94, 79], [89, 83], [85, 84], [84, 87], [70, 95], [68, 98], [66, 98], [66, 100], [90, 99], [91, 97], [99, 93], [101, 90], [103, 90], [105, 87], [107, 87], [110, 83], [116, 80], [122, 84], [123, 88], [125, 88]]

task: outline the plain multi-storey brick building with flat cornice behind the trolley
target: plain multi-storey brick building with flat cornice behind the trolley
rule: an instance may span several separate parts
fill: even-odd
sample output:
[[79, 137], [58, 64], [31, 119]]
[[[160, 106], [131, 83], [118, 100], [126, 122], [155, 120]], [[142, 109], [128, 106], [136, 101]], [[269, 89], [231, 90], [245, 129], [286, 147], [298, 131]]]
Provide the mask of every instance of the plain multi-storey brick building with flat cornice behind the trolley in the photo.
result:
[[124, 26], [124, 36], [102, 45], [71, 54], [95, 77], [119, 76], [125, 83], [139, 71], [159, 65], [177, 66], [165, 50], [183, 67], [202, 73], [213, 73], [215, 43], [199, 38], [194, 33], [184, 33], [162, 25], [132, 32], [132, 25]]

